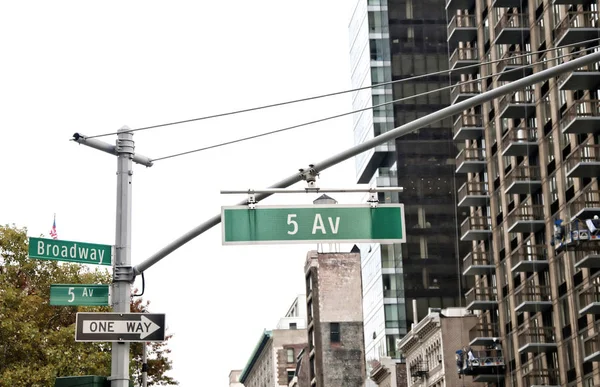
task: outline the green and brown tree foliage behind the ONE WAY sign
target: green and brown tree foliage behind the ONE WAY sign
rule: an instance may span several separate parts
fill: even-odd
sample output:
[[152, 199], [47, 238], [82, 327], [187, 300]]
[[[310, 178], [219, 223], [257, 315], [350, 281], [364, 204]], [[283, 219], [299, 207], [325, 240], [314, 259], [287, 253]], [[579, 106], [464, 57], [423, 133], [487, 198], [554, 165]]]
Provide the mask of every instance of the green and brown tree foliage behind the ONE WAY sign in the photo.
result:
[[[0, 384], [54, 386], [57, 376], [110, 375], [111, 343], [75, 342], [77, 307], [50, 306], [51, 284], [107, 284], [106, 269], [28, 258], [27, 230], [0, 226]], [[140, 298], [132, 312], [148, 310]], [[107, 307], [80, 307], [108, 312]], [[141, 378], [141, 343], [131, 345], [130, 375]], [[166, 342], [148, 346], [148, 385], [176, 385]]]

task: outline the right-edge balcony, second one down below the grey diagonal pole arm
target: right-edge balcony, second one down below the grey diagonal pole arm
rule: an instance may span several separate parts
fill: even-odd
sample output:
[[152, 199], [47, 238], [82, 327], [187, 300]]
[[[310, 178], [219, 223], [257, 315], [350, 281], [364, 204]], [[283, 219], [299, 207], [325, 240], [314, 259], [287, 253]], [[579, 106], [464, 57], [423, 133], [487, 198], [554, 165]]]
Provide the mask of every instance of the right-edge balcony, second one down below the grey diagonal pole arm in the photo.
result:
[[575, 101], [563, 113], [560, 128], [564, 134], [600, 132], [600, 101]]

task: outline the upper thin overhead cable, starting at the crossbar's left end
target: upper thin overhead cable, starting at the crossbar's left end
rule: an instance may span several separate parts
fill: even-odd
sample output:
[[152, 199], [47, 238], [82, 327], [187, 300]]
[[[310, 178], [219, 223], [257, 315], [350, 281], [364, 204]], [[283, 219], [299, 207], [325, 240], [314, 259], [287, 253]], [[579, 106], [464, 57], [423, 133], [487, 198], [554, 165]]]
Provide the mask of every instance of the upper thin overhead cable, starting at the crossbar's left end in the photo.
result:
[[[561, 47], [553, 47], [553, 48], [548, 48], [545, 50], [532, 51], [532, 52], [528, 52], [528, 53], [521, 54], [521, 55], [515, 55], [515, 56], [511, 57], [511, 59], [532, 56], [534, 54], [540, 54], [540, 53], [548, 52], [551, 50], [557, 50], [557, 49], [561, 49], [561, 48], [567, 48], [567, 47], [572, 47], [572, 46], [581, 46], [586, 43], [591, 43], [591, 42], [594, 42], [597, 40], [600, 40], [600, 38], [589, 39], [589, 40], [584, 40], [584, 41], [577, 42], [577, 43], [564, 45]], [[483, 65], [498, 63], [498, 62], [502, 62], [505, 60], [506, 60], [506, 58], [496, 59], [496, 60], [488, 61], [488, 62], [481, 62], [481, 63], [477, 63], [474, 65], [468, 65], [468, 66], [461, 67], [461, 69], [469, 69], [469, 68], [475, 68], [475, 67], [479, 68], [480, 66], [483, 66]], [[198, 117], [198, 118], [191, 118], [188, 120], [173, 121], [173, 122], [168, 122], [165, 124], [145, 126], [145, 127], [141, 127], [141, 128], [131, 129], [131, 130], [129, 130], [129, 132], [133, 133], [133, 132], [138, 132], [138, 131], [143, 131], [143, 130], [162, 128], [165, 126], [186, 124], [186, 123], [190, 123], [190, 122], [204, 121], [204, 120], [208, 120], [208, 119], [212, 119], [212, 118], [226, 117], [226, 116], [231, 116], [231, 115], [236, 115], [236, 114], [241, 114], [241, 113], [249, 113], [249, 112], [253, 112], [253, 111], [257, 111], [257, 110], [263, 110], [263, 109], [268, 109], [268, 108], [273, 108], [273, 107], [280, 107], [280, 106], [290, 105], [290, 104], [299, 103], [299, 102], [307, 102], [307, 101], [312, 101], [312, 100], [326, 98], [326, 97], [333, 97], [333, 96], [337, 96], [337, 95], [372, 89], [372, 88], [376, 88], [376, 87], [389, 86], [389, 85], [393, 85], [393, 84], [401, 83], [401, 82], [409, 82], [409, 81], [413, 81], [416, 79], [426, 78], [426, 77], [430, 77], [430, 76], [434, 76], [434, 75], [445, 75], [445, 74], [452, 74], [452, 73], [456, 74], [457, 72], [458, 72], [457, 70], [442, 70], [442, 71], [437, 71], [437, 72], [433, 72], [433, 73], [415, 75], [415, 76], [412, 76], [409, 78], [398, 79], [395, 81], [388, 81], [388, 82], [377, 83], [375, 85], [363, 86], [363, 87], [359, 87], [359, 88], [355, 88], [355, 89], [337, 91], [337, 92], [333, 92], [333, 93], [327, 93], [327, 94], [316, 95], [316, 96], [312, 96], [312, 97], [305, 97], [305, 98], [300, 98], [300, 99], [295, 99], [295, 100], [290, 100], [290, 101], [278, 102], [278, 103], [269, 104], [269, 105], [256, 106], [256, 107], [252, 107], [252, 108], [235, 110], [235, 111], [226, 112], [226, 113], [212, 114], [212, 115]], [[108, 133], [103, 133], [103, 134], [97, 134], [94, 136], [88, 136], [87, 138], [105, 137], [105, 136], [110, 136], [110, 135], [114, 135], [114, 134], [118, 134], [118, 132], [108, 132]]]

